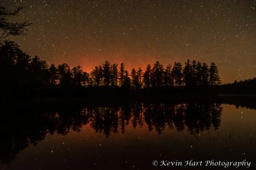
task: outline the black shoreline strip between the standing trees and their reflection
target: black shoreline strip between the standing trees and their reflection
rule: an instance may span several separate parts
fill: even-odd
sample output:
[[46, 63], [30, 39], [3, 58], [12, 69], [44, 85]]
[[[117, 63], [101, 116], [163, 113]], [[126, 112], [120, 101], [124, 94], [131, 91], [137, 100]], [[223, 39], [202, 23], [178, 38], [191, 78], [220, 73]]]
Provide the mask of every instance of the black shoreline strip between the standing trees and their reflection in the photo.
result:
[[220, 103], [234, 104], [236, 106], [256, 109], [256, 94], [197, 94], [196, 96], [182, 94], [147, 96], [87, 96], [87, 97], [33, 97], [33, 98], [13, 98], [1, 102], [6, 106], [118, 106], [131, 103]]

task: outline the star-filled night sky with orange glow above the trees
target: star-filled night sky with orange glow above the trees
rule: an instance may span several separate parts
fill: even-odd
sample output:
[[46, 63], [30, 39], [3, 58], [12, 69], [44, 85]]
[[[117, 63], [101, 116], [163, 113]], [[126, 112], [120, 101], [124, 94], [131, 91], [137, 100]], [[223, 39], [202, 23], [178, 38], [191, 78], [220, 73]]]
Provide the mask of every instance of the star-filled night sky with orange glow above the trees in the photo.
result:
[[215, 62], [223, 83], [256, 76], [255, 0], [1, 0], [26, 6], [10, 20], [31, 21], [9, 37], [48, 64], [84, 71], [104, 60], [127, 69], [187, 59]]

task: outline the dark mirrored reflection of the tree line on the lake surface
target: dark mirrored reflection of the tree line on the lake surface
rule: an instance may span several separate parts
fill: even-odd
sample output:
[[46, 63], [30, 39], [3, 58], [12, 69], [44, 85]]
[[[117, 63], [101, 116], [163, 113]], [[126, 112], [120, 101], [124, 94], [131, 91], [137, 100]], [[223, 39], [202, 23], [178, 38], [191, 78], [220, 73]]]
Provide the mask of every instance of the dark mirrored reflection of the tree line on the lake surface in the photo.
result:
[[[16, 108], [16, 109], [13, 109]], [[83, 125], [108, 138], [113, 133], [125, 133], [128, 125], [146, 126], [161, 134], [165, 128], [198, 134], [218, 129], [221, 123], [220, 104], [124, 104], [104, 107], [36, 107], [8, 108], [1, 114], [1, 164], [15, 160], [17, 154], [29, 145], [36, 145], [47, 134], [66, 135], [79, 132]]]

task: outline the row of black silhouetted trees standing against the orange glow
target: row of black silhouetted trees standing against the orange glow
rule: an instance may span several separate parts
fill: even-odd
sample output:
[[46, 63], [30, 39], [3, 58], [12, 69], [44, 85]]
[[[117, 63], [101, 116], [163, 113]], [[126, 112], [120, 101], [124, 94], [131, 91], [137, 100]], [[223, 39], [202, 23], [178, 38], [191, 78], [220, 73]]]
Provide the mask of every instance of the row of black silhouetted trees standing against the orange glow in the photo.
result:
[[1, 81], [7, 85], [114, 86], [128, 89], [220, 85], [218, 67], [214, 62], [208, 66], [187, 60], [184, 66], [174, 62], [173, 66], [168, 64], [164, 67], [157, 61], [153, 66], [148, 64], [145, 71], [138, 68], [129, 72], [124, 63], [118, 66], [106, 60], [86, 73], [81, 66], [70, 68], [66, 63], [48, 66], [38, 56], [31, 57], [22, 52], [13, 41], [4, 41], [0, 45], [0, 71]]

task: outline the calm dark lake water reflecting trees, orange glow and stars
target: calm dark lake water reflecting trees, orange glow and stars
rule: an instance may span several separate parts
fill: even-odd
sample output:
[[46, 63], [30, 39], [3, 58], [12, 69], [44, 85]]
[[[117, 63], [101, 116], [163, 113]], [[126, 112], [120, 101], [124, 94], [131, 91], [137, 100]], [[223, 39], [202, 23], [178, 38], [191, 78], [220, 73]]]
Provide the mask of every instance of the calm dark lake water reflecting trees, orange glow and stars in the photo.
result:
[[193, 159], [255, 169], [255, 122], [256, 110], [228, 104], [11, 107], [1, 113], [0, 167], [184, 169], [152, 161]]

